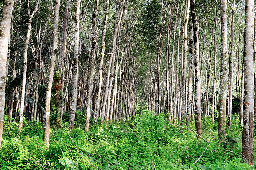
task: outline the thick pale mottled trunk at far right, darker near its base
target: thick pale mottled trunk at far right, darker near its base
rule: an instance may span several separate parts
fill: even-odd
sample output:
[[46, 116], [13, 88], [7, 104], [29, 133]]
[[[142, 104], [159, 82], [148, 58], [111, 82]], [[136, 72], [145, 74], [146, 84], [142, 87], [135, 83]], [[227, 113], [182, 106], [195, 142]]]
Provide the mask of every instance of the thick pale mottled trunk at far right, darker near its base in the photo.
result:
[[254, 0], [245, 1], [245, 28], [244, 28], [244, 71], [245, 75], [245, 110], [243, 115], [242, 155], [243, 160], [254, 165], [253, 149], [253, 117], [254, 117]]

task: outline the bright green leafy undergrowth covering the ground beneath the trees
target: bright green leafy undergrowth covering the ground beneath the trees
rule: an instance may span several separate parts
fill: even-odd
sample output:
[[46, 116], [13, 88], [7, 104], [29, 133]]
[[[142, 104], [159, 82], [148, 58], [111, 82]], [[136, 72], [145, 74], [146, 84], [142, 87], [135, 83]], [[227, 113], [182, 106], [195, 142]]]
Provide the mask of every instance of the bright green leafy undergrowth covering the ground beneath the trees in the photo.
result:
[[[50, 145], [42, 140], [43, 125], [8, 123], [5, 117], [0, 155], [1, 170], [248, 170], [242, 162], [241, 134], [233, 119], [227, 139], [219, 140], [217, 123], [202, 122], [203, 135], [165, 122], [164, 115], [142, 110], [120, 125], [93, 125], [83, 130], [82, 114], [77, 112], [76, 128], [51, 128]], [[204, 120], [202, 118], [202, 120]], [[205, 128], [204, 128], [205, 125]], [[52, 126], [54, 127], [54, 126]], [[195, 129], [191, 124], [190, 129]], [[207, 148], [207, 149], [206, 149]]]

